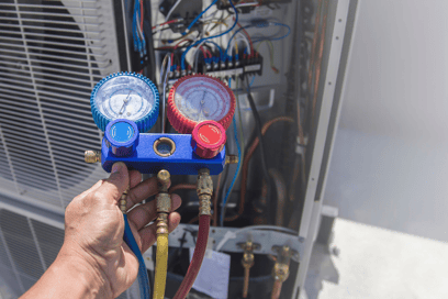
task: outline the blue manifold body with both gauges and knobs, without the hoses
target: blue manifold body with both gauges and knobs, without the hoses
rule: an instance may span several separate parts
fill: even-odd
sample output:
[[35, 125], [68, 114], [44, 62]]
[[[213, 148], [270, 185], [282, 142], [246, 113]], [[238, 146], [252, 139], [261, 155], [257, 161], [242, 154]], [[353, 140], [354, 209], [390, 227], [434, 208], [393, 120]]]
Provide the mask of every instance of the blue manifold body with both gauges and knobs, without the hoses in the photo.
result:
[[105, 77], [90, 103], [93, 120], [104, 132], [101, 165], [108, 173], [119, 160], [142, 174], [166, 169], [171, 175], [195, 175], [208, 168], [217, 175], [224, 168], [225, 130], [236, 103], [220, 79], [191, 75], [172, 86], [166, 113], [179, 134], [147, 133], [159, 117], [160, 99], [156, 86], [142, 75]]

